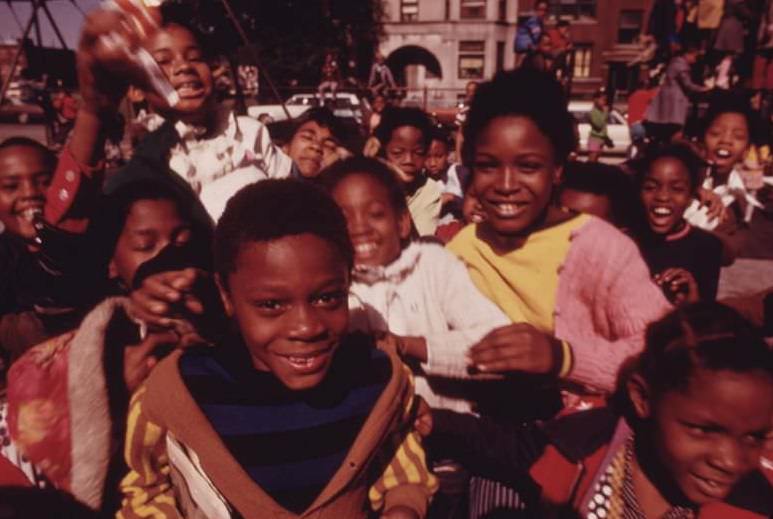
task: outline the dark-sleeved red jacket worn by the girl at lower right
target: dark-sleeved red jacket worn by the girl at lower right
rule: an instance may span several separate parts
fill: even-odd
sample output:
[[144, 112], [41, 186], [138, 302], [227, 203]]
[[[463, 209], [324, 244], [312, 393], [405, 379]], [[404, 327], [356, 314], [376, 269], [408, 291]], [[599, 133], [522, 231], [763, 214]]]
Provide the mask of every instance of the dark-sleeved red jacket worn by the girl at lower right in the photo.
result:
[[[435, 455], [456, 459], [473, 474], [527, 492], [529, 484], [534, 485], [545, 509], [541, 517], [564, 517], [566, 512], [574, 517], [585, 510], [592, 497], [589, 489], [631, 434], [625, 420], [608, 408], [510, 428], [471, 415], [434, 411], [429, 446]], [[726, 501], [701, 507], [697, 519], [772, 516], [773, 488], [755, 471]]]

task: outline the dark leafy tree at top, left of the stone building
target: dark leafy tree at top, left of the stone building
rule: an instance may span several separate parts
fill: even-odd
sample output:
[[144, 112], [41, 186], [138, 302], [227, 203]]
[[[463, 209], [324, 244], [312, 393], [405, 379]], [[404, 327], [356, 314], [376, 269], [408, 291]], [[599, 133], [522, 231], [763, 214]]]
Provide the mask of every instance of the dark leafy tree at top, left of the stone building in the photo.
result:
[[[326, 52], [356, 63], [367, 77], [383, 32], [381, 0], [230, 0], [257, 50], [264, 72], [277, 85], [316, 86]], [[242, 46], [222, 0], [174, 0], [165, 10], [205, 34], [216, 53], [236, 55]], [[265, 89], [263, 89], [265, 91]]]

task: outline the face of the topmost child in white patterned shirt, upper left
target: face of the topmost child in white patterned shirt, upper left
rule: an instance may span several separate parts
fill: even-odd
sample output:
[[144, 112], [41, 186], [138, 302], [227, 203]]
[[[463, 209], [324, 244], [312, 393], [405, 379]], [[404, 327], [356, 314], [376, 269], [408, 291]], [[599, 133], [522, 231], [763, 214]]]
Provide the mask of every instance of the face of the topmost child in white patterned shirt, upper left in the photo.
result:
[[[184, 27], [169, 25], [149, 38], [146, 48], [180, 96], [171, 110], [184, 121], [199, 122], [214, 98], [212, 70], [196, 38]], [[158, 94], [146, 94], [155, 108], [170, 110]]]

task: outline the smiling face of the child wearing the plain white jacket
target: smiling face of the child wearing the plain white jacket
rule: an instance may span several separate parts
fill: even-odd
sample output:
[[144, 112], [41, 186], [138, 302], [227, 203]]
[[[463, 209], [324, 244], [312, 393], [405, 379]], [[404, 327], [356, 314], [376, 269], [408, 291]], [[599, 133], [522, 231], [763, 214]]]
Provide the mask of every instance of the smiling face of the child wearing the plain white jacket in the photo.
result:
[[368, 175], [353, 174], [332, 195], [346, 216], [356, 265], [388, 265], [400, 256], [402, 240], [411, 232], [410, 216], [395, 210], [384, 186]]

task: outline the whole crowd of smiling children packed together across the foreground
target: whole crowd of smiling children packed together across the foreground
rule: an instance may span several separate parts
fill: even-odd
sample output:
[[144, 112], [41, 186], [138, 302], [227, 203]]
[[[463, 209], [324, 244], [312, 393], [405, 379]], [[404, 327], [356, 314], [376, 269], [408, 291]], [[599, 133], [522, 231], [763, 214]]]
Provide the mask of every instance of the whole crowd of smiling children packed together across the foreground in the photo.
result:
[[520, 69], [479, 85], [460, 164], [408, 108], [344, 158], [328, 112], [279, 144], [218, 106], [167, 20], [140, 43], [181, 101], [149, 94], [166, 122], [104, 178], [141, 82], [100, 46], [116, 16], [84, 28], [58, 164], [0, 145], [4, 516], [773, 513], [773, 351], [715, 302], [731, 240], [689, 221], [738, 199], [737, 105], [703, 160], [627, 175], [570, 161], [561, 85]]

